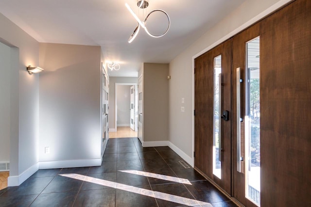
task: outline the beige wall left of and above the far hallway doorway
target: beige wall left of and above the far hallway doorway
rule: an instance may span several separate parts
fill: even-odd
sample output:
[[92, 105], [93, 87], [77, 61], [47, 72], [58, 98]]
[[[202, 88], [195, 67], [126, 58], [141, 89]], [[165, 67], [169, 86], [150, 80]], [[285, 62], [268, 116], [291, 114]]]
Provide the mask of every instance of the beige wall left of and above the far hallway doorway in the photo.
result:
[[134, 83], [137, 84], [138, 79], [132, 77], [109, 77], [109, 128], [115, 129], [115, 93], [116, 83]]

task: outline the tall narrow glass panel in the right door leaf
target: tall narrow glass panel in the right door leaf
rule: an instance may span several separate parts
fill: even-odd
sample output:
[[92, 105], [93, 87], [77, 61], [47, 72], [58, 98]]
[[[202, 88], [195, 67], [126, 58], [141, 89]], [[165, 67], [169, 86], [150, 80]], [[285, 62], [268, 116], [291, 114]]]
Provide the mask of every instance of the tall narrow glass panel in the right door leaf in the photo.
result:
[[246, 43], [245, 196], [260, 206], [259, 37]]

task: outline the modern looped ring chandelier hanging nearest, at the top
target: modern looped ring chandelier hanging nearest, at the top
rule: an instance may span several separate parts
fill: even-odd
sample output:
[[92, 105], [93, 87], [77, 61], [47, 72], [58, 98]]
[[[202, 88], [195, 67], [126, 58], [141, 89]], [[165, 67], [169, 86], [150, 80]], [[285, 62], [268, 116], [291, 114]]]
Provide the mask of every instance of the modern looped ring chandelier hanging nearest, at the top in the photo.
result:
[[[148, 0], [138, 0], [138, 1], [137, 1], [137, 6], [138, 6], [139, 8], [141, 8], [141, 9], [147, 8], [148, 5], [149, 5]], [[146, 33], [147, 33], [149, 36], [155, 37], [155, 38], [156, 38], [156, 37], [162, 37], [162, 36], [164, 36], [164, 35], [169, 31], [170, 26], [171, 26], [171, 20], [170, 20], [169, 15], [168, 15], [165, 11], [163, 11], [163, 10], [161, 10], [161, 9], [152, 10], [152, 11], [145, 17], [145, 19], [144, 19], [143, 21], [140, 21], [140, 19], [138, 18], [138, 16], [133, 12], [133, 10], [131, 9], [131, 7], [130, 7], [127, 3], [125, 3], [125, 6], [126, 6], [126, 8], [130, 11], [130, 13], [134, 16], [134, 18], [136, 19], [136, 21], [138, 22], [138, 26], [135, 28], [134, 32], [131, 34], [130, 38], [128, 39], [128, 42], [129, 42], [129, 43], [133, 42], [133, 40], [136, 38], [136, 36], [138, 35], [138, 32], [139, 32], [140, 27], [142, 27], [142, 28], [146, 31]], [[169, 20], [169, 25], [168, 25], [166, 31], [165, 31], [163, 34], [154, 35], [154, 34], [150, 33], [150, 32], [147, 30], [146, 21], [147, 21], [148, 17], [149, 17], [152, 13], [154, 13], [154, 12], [162, 12], [162, 13], [164, 13], [164, 14], [166, 15], [167, 19]]]

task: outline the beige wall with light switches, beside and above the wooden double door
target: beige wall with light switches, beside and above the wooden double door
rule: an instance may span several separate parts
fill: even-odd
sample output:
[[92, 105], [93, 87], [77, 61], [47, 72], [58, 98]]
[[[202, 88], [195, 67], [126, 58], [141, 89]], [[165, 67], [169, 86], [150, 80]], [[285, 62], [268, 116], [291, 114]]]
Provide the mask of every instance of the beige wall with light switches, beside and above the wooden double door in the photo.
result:
[[[228, 14], [171, 63], [169, 73], [169, 141], [192, 158], [193, 155], [193, 71], [192, 59], [218, 45], [290, 0], [247, 0]], [[180, 111], [185, 98], [185, 112]]]

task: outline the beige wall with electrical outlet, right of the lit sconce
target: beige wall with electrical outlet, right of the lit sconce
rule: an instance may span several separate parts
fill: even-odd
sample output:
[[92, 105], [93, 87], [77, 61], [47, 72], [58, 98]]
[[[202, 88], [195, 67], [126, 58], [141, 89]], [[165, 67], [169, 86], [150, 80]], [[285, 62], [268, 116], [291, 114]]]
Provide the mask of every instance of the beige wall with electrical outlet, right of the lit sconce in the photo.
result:
[[101, 159], [101, 48], [40, 43], [39, 57], [39, 161]]

